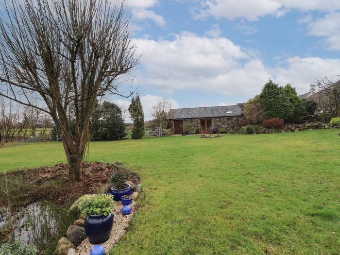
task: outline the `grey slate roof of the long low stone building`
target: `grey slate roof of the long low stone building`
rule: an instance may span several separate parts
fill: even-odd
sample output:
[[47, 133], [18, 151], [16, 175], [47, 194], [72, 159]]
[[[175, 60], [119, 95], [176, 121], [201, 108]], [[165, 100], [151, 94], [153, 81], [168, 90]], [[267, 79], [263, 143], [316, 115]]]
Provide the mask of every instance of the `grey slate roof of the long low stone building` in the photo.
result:
[[[227, 113], [228, 112], [228, 113]], [[231, 112], [231, 113], [229, 113]], [[171, 109], [169, 119], [195, 119], [241, 116], [243, 109], [238, 105]]]

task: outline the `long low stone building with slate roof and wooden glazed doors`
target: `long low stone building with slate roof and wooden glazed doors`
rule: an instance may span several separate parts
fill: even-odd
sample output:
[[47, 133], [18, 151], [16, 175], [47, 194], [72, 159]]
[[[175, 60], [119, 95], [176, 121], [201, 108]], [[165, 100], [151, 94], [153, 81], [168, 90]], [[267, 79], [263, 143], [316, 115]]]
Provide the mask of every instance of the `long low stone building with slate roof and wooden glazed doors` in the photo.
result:
[[237, 105], [171, 109], [168, 128], [172, 134], [209, 134], [234, 125], [243, 115], [243, 103]]

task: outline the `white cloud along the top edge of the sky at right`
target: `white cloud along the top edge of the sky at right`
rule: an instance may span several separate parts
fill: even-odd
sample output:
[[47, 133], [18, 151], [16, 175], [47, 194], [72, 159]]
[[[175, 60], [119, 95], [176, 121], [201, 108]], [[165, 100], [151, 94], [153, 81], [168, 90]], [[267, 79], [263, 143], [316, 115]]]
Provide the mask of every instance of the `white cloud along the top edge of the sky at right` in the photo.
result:
[[280, 17], [289, 9], [299, 11], [330, 12], [340, 9], [339, 0], [206, 0], [194, 17], [204, 18], [209, 15], [217, 18], [245, 18], [257, 20], [259, 17], [274, 15]]

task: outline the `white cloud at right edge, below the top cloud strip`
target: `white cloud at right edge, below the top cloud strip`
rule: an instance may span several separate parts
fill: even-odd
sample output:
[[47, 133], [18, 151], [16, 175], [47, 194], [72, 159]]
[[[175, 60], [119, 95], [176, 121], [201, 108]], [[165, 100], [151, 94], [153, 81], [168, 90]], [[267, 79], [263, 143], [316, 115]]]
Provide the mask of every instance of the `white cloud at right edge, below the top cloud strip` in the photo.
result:
[[307, 29], [308, 35], [324, 37], [328, 50], [340, 50], [340, 12], [310, 22]]

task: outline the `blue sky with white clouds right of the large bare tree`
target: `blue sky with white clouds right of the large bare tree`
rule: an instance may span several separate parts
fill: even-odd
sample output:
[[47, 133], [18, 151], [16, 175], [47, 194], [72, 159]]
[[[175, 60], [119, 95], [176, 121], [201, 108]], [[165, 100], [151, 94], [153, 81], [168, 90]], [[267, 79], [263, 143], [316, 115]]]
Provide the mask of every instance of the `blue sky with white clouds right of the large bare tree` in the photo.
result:
[[[299, 94], [340, 74], [340, 0], [127, 0], [146, 119], [172, 108], [246, 102], [271, 78]], [[113, 98], [120, 106], [129, 102]]]

